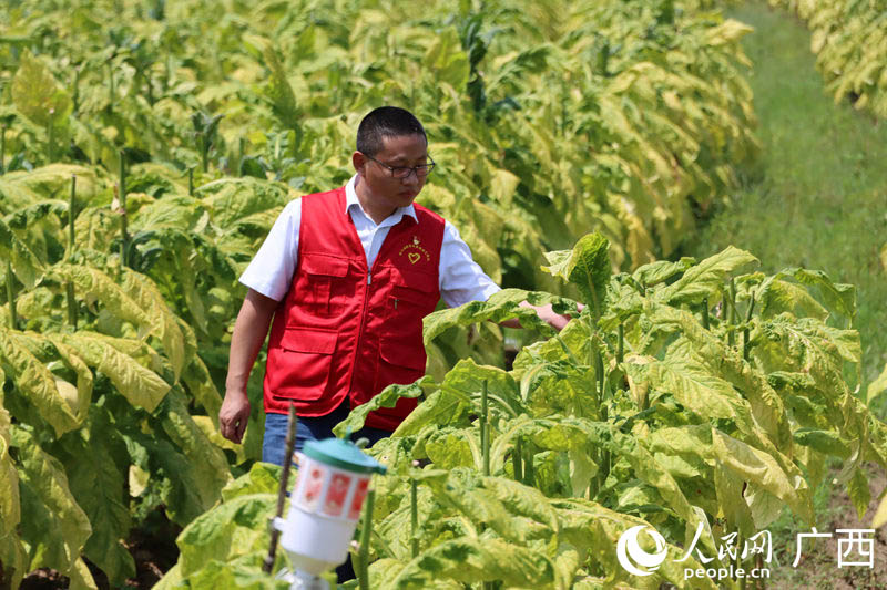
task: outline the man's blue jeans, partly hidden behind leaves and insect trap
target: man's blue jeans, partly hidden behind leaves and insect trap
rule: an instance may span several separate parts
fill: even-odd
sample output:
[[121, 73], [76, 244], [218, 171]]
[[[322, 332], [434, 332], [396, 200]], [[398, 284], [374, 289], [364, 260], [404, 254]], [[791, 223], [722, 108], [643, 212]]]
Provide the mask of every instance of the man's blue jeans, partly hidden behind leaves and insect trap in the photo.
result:
[[[333, 426], [348, 417], [348, 400], [325, 416], [299, 416], [296, 423], [296, 451], [302, 451], [308, 441], [323, 441], [333, 436]], [[284, 464], [286, 455], [286, 414], [267, 414], [265, 416], [265, 438], [262, 442], [262, 460]], [[358, 438], [369, 438], [369, 446], [375, 445], [379, 439], [390, 436], [391, 433], [379, 428], [364, 426], [351, 434], [351, 441]]]

